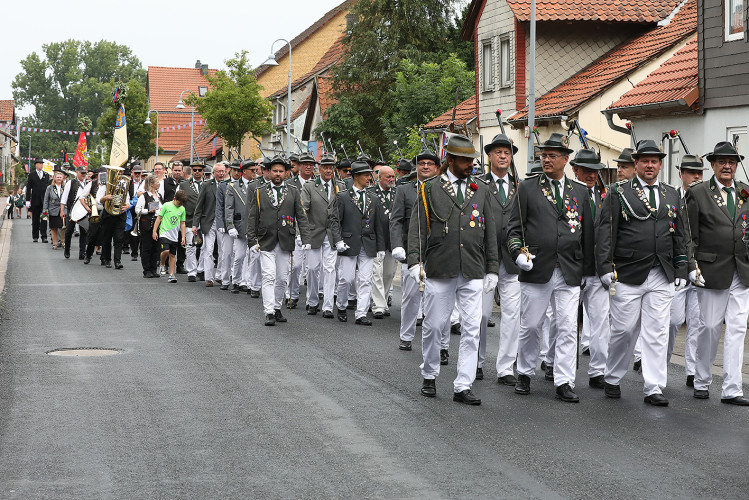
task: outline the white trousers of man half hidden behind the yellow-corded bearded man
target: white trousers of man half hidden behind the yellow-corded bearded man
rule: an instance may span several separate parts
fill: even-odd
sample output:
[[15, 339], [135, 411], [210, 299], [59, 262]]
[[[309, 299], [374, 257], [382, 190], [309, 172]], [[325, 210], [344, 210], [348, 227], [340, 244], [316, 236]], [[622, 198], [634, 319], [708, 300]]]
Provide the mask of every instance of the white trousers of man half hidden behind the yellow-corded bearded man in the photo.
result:
[[[520, 329], [520, 282], [517, 274], [507, 272], [504, 263], [499, 264], [499, 302], [502, 315], [499, 318], [499, 350], [497, 351], [497, 377], [512, 375], [512, 364], [518, 355], [518, 330]], [[479, 367], [486, 359], [487, 323], [494, 307], [494, 290], [484, 294], [481, 310], [481, 336], [479, 339]]]

